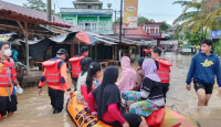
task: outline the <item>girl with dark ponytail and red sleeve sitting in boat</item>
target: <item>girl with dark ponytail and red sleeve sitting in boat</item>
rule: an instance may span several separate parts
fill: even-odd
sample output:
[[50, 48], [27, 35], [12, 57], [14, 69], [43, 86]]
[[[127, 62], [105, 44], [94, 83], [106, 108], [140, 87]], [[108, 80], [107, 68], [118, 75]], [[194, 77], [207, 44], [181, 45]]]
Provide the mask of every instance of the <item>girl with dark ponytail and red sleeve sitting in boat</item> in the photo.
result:
[[93, 62], [90, 65], [90, 68], [87, 71], [86, 81], [83, 82], [82, 86], [81, 86], [82, 95], [84, 97], [84, 108], [85, 109], [88, 107], [88, 105], [87, 105], [87, 94], [90, 94], [98, 85], [102, 84], [102, 82], [98, 81], [99, 77], [101, 77], [101, 65], [99, 65], [99, 63]]

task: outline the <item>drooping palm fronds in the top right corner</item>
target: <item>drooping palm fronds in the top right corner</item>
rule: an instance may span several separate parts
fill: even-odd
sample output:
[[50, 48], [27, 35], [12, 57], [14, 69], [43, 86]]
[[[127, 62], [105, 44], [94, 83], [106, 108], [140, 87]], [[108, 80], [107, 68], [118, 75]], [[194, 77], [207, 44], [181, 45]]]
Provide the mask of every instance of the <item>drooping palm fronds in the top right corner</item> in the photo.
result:
[[[181, 4], [183, 12], [173, 21], [182, 22], [177, 32], [182, 30], [218, 30], [221, 29], [221, 2], [220, 0], [192, 0], [192, 1], [175, 1], [173, 4]], [[191, 11], [189, 11], [191, 10]]]

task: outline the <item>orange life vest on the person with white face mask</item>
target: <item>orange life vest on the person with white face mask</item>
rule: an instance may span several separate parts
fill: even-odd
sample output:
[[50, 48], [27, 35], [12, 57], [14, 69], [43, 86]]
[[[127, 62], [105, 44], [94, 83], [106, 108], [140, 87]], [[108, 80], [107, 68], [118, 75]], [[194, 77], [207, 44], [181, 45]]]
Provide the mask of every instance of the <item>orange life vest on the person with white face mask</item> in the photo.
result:
[[[0, 64], [0, 87], [9, 87], [13, 85], [17, 80], [14, 63], [10, 59], [9, 61], [1, 61]], [[11, 78], [12, 84], [9, 78]]]

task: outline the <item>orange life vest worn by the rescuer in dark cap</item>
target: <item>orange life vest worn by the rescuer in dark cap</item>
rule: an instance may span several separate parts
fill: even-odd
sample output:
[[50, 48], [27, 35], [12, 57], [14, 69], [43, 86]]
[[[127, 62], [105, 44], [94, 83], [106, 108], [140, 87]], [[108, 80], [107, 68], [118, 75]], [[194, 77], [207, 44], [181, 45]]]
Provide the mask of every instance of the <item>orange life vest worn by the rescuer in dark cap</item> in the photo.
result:
[[45, 67], [45, 82], [48, 85], [62, 86], [61, 72], [57, 67], [60, 62], [62, 62], [62, 60], [49, 60], [42, 63], [42, 65]]

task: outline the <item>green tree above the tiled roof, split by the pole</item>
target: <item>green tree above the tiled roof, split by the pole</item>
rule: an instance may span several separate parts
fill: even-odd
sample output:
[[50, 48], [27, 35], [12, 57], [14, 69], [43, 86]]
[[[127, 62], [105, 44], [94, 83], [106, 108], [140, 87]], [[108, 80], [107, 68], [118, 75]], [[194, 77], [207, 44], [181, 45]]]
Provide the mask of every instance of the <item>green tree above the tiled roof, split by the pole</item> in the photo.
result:
[[[27, 0], [27, 1], [28, 3], [23, 3], [23, 7], [46, 12], [46, 3], [44, 3], [42, 0]], [[52, 14], [60, 15], [59, 13], [55, 13], [54, 10], [52, 10]]]

